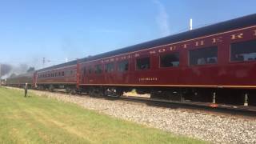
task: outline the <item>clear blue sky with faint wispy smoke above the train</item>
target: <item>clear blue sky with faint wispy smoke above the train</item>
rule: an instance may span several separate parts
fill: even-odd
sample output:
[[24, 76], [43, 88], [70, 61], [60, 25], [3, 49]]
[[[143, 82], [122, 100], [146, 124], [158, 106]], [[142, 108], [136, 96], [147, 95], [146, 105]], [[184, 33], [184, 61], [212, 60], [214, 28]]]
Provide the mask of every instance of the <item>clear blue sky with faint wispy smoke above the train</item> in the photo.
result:
[[0, 0], [0, 63], [36, 69], [254, 14], [255, 0]]

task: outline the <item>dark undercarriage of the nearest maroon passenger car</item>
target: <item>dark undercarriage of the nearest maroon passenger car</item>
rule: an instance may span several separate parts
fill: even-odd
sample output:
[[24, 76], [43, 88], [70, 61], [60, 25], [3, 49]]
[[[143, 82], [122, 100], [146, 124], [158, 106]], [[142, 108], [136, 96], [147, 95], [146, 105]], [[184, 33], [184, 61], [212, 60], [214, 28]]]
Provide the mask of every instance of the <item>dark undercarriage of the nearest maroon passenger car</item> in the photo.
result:
[[256, 106], [256, 90], [253, 89], [84, 86], [79, 91], [90, 94], [90, 96], [120, 97], [131, 90], [136, 90], [137, 94], [150, 94], [150, 98], [175, 102]]

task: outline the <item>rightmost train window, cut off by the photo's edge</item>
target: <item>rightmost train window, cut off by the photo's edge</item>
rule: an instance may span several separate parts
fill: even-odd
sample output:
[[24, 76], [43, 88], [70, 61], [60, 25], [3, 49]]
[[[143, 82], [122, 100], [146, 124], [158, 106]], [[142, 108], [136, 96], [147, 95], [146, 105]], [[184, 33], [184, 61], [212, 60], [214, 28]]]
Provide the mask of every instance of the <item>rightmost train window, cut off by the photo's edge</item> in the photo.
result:
[[230, 61], [255, 61], [256, 60], [256, 40], [247, 42], [231, 43]]

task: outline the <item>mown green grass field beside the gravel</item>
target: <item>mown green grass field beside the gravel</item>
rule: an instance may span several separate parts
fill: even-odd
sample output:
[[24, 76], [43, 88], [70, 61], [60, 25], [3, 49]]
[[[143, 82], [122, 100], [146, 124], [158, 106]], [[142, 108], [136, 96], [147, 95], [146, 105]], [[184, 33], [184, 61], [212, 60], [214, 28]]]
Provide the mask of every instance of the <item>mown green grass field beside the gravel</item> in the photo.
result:
[[74, 104], [0, 88], [0, 143], [204, 143]]

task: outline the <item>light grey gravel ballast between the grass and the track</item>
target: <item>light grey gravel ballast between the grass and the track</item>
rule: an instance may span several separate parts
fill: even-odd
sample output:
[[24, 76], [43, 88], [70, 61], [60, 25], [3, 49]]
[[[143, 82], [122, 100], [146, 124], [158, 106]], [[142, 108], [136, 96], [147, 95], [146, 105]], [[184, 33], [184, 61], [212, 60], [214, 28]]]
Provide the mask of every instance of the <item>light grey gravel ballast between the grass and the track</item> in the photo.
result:
[[214, 143], [256, 143], [256, 118], [147, 106], [142, 103], [89, 96], [31, 91], [39, 96], [74, 102], [86, 109], [191, 138], [200, 138]]

